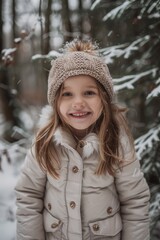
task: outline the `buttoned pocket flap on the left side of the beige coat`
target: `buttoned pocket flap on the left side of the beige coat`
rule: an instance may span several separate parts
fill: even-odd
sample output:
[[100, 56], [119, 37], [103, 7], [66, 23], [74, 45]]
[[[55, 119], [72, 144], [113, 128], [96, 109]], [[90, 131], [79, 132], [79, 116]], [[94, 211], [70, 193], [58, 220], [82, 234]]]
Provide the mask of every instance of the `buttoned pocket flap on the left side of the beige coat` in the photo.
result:
[[46, 209], [43, 212], [44, 229], [46, 232], [55, 232], [62, 227], [61, 220], [52, 216]]

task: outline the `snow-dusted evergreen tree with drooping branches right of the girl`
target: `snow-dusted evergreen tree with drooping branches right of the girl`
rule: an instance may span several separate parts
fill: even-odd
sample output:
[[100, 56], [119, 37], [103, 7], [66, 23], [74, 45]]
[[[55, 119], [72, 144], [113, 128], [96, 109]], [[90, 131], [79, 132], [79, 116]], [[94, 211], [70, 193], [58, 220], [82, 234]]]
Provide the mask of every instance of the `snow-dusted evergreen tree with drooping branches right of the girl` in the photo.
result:
[[[108, 46], [101, 49], [113, 73], [115, 90], [128, 107], [136, 106], [135, 147], [150, 187], [151, 239], [160, 221], [160, 1], [103, 0]], [[133, 116], [130, 116], [131, 118]], [[132, 119], [133, 120], [133, 119]]]

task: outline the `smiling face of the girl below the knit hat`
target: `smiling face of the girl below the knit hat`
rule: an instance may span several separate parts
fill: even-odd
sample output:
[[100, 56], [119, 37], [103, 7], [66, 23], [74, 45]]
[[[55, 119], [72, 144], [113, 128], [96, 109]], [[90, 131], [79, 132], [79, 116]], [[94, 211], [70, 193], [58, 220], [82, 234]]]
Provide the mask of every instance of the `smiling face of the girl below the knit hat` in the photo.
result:
[[94, 78], [87, 75], [69, 77], [64, 81], [59, 101], [62, 120], [73, 131], [87, 130], [102, 113], [102, 102]]

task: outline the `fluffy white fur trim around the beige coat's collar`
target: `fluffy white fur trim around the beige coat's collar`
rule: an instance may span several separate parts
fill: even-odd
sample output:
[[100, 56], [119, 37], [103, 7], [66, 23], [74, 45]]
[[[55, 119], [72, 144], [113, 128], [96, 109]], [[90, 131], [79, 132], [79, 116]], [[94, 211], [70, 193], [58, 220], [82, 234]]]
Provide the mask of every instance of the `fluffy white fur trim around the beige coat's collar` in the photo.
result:
[[[40, 128], [44, 127], [51, 119], [53, 115], [53, 108], [49, 105], [45, 106], [40, 114], [40, 120], [38, 126]], [[89, 133], [86, 137], [81, 140], [78, 144], [69, 132], [67, 132], [64, 128], [59, 126], [53, 136], [53, 141], [55, 145], [64, 146], [67, 149], [75, 149], [78, 150], [80, 148], [80, 143], [83, 141], [83, 151], [82, 157], [89, 157], [94, 151], [99, 151], [99, 140], [98, 136], [95, 133]], [[81, 149], [82, 150], [82, 149]]]

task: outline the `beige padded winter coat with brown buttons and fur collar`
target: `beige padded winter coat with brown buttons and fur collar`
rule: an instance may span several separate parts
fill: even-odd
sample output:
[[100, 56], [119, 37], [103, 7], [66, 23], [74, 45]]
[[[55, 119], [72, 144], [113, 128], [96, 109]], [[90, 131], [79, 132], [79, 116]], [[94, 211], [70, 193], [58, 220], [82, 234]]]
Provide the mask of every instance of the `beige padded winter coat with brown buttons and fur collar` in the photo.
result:
[[17, 240], [149, 240], [149, 189], [139, 162], [128, 152], [114, 178], [97, 176], [94, 133], [76, 148], [59, 128], [53, 141], [62, 163], [58, 180], [31, 152], [26, 157], [16, 186]]

